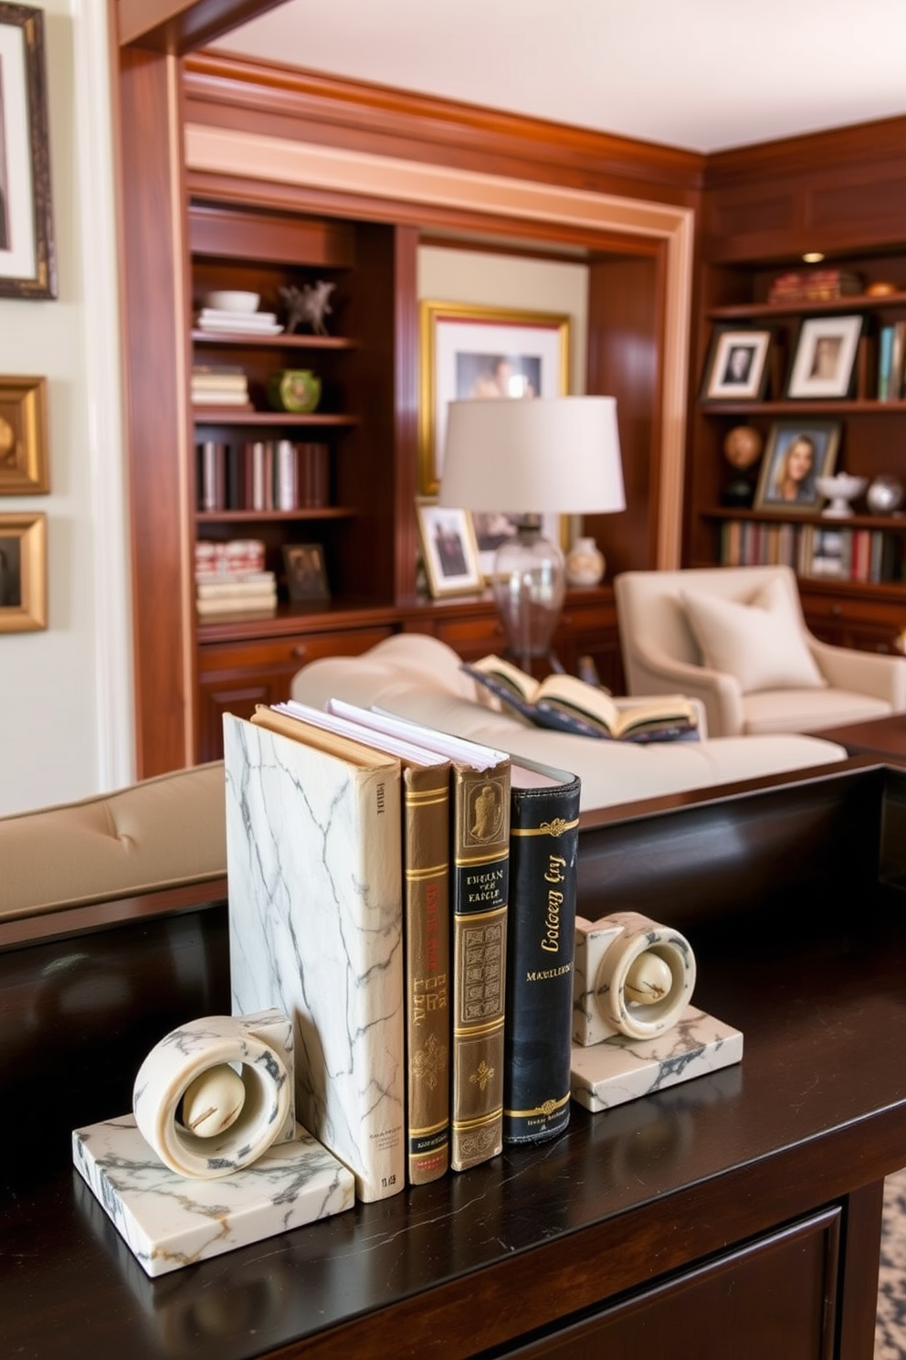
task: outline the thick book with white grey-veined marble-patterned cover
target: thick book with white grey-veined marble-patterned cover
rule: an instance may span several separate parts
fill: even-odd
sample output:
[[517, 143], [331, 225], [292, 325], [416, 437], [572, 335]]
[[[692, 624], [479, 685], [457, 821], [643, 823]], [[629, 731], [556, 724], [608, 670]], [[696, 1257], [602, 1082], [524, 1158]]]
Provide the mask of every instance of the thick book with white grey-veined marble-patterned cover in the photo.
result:
[[292, 1017], [297, 1118], [384, 1198], [405, 1185], [399, 762], [232, 715], [224, 753], [234, 1013]]

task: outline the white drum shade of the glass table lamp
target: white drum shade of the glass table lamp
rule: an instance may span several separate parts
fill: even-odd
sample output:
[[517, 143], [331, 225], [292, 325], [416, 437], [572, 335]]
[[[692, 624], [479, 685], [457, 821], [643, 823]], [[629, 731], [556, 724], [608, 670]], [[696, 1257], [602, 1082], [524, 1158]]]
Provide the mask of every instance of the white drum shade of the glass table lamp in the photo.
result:
[[509, 514], [625, 510], [617, 398], [451, 401], [439, 502]]

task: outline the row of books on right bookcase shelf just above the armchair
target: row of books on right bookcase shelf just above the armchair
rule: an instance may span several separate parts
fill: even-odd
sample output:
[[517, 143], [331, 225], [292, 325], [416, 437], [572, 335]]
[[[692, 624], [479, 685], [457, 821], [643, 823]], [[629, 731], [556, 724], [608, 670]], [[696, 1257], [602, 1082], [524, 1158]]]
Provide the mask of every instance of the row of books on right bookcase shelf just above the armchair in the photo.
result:
[[838, 581], [899, 581], [899, 536], [883, 529], [833, 524], [763, 524], [728, 520], [721, 525], [720, 560], [727, 567], [782, 563], [800, 577]]

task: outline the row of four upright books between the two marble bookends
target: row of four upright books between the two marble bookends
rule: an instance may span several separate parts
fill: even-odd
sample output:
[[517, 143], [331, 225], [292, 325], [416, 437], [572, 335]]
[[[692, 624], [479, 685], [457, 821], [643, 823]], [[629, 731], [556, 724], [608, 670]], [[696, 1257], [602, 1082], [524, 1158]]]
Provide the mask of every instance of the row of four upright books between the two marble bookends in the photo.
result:
[[234, 1006], [365, 1201], [569, 1119], [579, 779], [337, 700], [224, 717]]

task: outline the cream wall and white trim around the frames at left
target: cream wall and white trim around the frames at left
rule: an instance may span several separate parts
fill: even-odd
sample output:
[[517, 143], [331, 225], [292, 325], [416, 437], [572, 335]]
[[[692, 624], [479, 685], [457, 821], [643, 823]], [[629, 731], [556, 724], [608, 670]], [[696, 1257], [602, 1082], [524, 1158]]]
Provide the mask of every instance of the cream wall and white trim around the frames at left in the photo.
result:
[[58, 298], [0, 298], [0, 373], [48, 379], [49, 627], [0, 634], [0, 813], [133, 775], [106, 4], [46, 0]]

